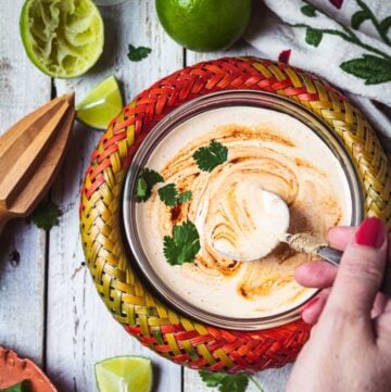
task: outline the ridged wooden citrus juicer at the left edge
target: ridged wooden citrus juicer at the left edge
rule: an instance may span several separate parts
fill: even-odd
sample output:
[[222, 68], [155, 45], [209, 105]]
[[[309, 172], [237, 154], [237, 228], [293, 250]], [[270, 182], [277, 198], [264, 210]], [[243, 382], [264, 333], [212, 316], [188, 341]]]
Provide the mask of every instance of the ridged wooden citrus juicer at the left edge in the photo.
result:
[[74, 93], [55, 98], [0, 136], [0, 233], [28, 216], [59, 172], [75, 119]]

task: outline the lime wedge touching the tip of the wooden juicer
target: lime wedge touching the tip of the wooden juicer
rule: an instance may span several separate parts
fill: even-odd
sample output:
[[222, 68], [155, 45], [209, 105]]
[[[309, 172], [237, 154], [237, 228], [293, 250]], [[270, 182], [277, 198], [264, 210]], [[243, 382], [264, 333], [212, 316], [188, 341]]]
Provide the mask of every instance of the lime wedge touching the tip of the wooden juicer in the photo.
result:
[[77, 119], [92, 128], [105, 129], [122, 108], [123, 99], [118, 84], [114, 76], [110, 76], [76, 105]]

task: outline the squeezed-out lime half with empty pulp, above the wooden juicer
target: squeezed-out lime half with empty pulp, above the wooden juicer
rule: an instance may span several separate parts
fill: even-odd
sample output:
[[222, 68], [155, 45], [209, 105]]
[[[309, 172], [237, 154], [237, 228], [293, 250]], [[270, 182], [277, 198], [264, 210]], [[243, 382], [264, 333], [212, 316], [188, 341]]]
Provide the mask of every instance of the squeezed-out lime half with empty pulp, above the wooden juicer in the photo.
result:
[[103, 21], [92, 0], [27, 0], [20, 23], [29, 60], [52, 77], [79, 76], [102, 53]]

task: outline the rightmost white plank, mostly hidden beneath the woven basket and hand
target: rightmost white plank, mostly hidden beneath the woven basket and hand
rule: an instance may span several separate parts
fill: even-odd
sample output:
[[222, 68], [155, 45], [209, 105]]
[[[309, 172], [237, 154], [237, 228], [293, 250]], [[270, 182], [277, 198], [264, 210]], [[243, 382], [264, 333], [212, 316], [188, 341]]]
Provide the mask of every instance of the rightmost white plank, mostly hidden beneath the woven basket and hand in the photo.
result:
[[[224, 52], [214, 53], [197, 53], [192, 51], [186, 51], [186, 64], [192, 65], [201, 61], [207, 61], [212, 59], [219, 59], [225, 56], [236, 55], [255, 55], [262, 56], [256, 49], [251, 47], [243, 40], [239, 40], [232, 48]], [[282, 392], [286, 390], [286, 383], [290, 374], [290, 365], [281, 369], [265, 370], [256, 375], [256, 379], [260, 384], [265, 389], [265, 392]], [[200, 379], [198, 371], [185, 369], [185, 392], [203, 392], [205, 391], [205, 384]], [[212, 391], [212, 390], [211, 390]], [[247, 392], [258, 391], [253, 383], [250, 383]]]

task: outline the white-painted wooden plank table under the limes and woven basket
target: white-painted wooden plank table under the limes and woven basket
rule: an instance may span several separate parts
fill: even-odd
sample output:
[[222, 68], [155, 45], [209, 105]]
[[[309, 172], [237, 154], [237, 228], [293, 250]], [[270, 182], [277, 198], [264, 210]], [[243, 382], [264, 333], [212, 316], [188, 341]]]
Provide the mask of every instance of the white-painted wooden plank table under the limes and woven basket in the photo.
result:
[[[105, 49], [85, 76], [52, 80], [27, 59], [20, 38], [23, 0], [0, 1], [0, 132], [55, 94], [75, 90], [76, 100], [115, 75], [125, 101], [185, 65], [224, 55], [255, 54], [244, 42], [224, 53], [184, 50], [163, 30], [154, 0], [131, 0], [102, 10]], [[152, 48], [141, 62], [127, 59], [128, 43]], [[84, 263], [78, 229], [79, 190], [101, 132], [76, 124], [71, 148], [49, 198], [63, 212], [45, 232], [25, 219], [10, 223], [0, 239], [0, 345], [36, 361], [59, 391], [96, 391], [93, 364], [115, 355], [153, 359], [156, 392], [213, 391], [194, 370], [155, 355], [126, 333], [105, 311]], [[266, 392], [285, 390], [290, 366], [257, 376]], [[256, 389], [251, 385], [248, 392]], [[136, 391], [135, 391], [136, 392]]]

